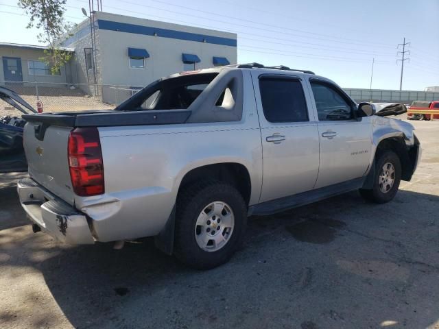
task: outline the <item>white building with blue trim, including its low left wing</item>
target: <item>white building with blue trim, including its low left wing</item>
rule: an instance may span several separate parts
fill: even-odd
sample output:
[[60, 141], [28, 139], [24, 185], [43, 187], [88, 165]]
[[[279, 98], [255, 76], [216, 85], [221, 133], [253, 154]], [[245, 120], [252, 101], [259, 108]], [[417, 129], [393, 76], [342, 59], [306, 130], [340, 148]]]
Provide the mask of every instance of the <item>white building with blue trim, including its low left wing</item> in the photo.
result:
[[86, 93], [102, 95], [107, 103], [119, 103], [159, 77], [237, 62], [233, 33], [106, 12], [95, 12], [93, 17], [94, 53], [90, 19], [85, 19], [60, 43], [73, 57], [55, 75], [40, 60], [47, 47], [0, 42], [0, 84], [78, 84]]

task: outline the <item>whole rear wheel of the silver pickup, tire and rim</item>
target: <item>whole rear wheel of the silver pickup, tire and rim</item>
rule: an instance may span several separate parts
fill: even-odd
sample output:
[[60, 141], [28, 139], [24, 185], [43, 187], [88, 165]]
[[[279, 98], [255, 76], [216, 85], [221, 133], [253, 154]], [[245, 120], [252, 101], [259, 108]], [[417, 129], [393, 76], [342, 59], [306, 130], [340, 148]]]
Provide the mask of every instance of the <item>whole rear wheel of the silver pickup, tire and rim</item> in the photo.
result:
[[200, 182], [177, 201], [175, 254], [185, 265], [211, 269], [226, 263], [241, 244], [247, 207], [233, 186]]

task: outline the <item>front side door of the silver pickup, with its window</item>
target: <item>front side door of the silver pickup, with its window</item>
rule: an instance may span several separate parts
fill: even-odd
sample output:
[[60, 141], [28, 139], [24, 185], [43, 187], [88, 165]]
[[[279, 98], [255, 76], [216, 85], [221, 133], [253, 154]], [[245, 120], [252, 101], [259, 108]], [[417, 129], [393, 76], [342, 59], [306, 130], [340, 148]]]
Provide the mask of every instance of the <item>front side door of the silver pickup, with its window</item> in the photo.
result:
[[370, 117], [355, 119], [356, 104], [332, 82], [311, 78], [309, 84], [320, 138], [320, 169], [314, 188], [361, 178], [370, 164]]

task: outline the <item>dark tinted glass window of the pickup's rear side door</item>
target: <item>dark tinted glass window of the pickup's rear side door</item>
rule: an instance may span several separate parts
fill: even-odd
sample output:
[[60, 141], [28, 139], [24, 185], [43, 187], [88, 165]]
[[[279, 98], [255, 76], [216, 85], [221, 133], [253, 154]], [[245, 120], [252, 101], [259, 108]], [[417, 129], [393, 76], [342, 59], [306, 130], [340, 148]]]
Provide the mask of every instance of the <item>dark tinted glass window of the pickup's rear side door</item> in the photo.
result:
[[259, 80], [265, 119], [270, 122], [309, 121], [302, 84], [296, 79], [261, 77]]

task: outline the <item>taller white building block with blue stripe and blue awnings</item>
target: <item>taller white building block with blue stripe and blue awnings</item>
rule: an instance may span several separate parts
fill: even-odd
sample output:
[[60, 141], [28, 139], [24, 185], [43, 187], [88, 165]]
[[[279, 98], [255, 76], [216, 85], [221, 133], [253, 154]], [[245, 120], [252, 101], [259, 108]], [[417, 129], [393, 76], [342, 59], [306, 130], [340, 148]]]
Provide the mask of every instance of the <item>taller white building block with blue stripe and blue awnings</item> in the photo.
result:
[[[171, 73], [237, 62], [236, 34], [106, 12], [95, 12], [94, 21], [94, 58], [89, 20], [62, 42], [75, 49], [70, 63], [75, 83], [93, 84], [96, 74], [97, 84], [118, 85], [120, 93], [123, 87], [139, 88]], [[102, 95], [117, 102], [112, 101], [113, 86], [102, 88]]]

